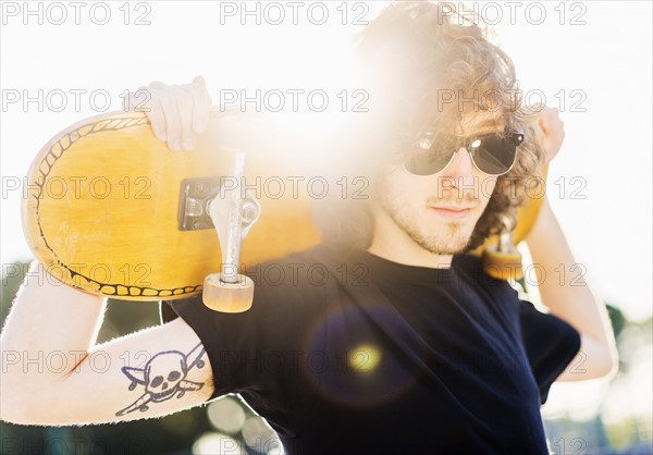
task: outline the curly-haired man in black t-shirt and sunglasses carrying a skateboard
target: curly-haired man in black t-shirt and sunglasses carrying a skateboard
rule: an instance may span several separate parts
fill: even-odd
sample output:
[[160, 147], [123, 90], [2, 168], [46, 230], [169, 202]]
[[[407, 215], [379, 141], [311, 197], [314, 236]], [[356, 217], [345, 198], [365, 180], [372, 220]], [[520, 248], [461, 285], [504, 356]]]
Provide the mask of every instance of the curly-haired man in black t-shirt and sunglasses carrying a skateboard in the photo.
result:
[[[551, 315], [541, 313], [464, 254], [512, 223], [562, 123], [550, 113], [542, 137], [515, 99], [510, 60], [458, 21], [441, 5], [397, 3], [361, 34], [374, 103], [355, 161], [369, 167], [371, 197], [330, 213], [324, 245], [275, 261], [297, 275], [255, 280], [245, 313], [213, 312], [200, 297], [163, 303], [167, 323], [102, 346], [102, 298], [29, 283], [2, 349], [69, 353], [75, 367], [8, 368], [1, 417], [114, 422], [237, 392], [292, 454], [546, 454], [539, 407], [551, 383], [614, 372], [614, 340], [587, 286], [544, 280]], [[155, 134], [192, 149], [207, 124], [204, 79], [149, 89]], [[574, 263], [547, 202], [527, 242], [550, 276]], [[316, 265], [320, 278], [301, 272]], [[100, 352], [107, 368], [94, 364]], [[148, 353], [146, 366], [125, 365], [126, 352]]]

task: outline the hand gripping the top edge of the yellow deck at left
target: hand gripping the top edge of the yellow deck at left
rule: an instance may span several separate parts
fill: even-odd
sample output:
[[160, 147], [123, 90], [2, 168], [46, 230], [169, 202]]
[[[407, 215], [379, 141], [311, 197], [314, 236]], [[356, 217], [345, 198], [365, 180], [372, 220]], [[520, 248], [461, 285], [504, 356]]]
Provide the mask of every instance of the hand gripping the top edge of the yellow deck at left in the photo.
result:
[[196, 136], [209, 123], [210, 107], [202, 76], [183, 85], [153, 82], [125, 98], [125, 110], [145, 112], [155, 135], [167, 140], [172, 150], [190, 150], [195, 146]]

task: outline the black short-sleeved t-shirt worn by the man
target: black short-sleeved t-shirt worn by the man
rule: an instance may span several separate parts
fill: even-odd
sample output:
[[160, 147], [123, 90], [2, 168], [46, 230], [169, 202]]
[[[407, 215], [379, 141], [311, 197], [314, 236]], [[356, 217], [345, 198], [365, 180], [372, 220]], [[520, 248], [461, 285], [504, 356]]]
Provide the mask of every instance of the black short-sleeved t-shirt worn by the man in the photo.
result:
[[197, 296], [162, 318], [202, 341], [211, 398], [241, 393], [286, 453], [547, 454], [540, 404], [580, 336], [478, 258], [431, 269], [321, 245], [247, 274], [247, 312]]

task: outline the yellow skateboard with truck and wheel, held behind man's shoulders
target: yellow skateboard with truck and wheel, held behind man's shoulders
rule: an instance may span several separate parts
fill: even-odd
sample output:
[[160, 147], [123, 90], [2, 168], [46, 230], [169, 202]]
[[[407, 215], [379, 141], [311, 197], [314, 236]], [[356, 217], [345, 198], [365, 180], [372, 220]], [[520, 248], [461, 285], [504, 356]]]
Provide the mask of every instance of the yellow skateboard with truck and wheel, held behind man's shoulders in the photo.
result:
[[[48, 142], [29, 168], [28, 246], [51, 274], [84, 292], [126, 300], [202, 292], [210, 308], [244, 311], [254, 284], [238, 266], [321, 241], [309, 186], [323, 186], [321, 170], [307, 172], [309, 153], [276, 139], [264, 121], [219, 108], [192, 151], [170, 150], [141, 112], [86, 119]], [[501, 265], [491, 267], [494, 275], [505, 278], [512, 245], [538, 208], [533, 199], [521, 209], [507, 243], [492, 238], [475, 251], [503, 245], [494, 262], [485, 254]]]

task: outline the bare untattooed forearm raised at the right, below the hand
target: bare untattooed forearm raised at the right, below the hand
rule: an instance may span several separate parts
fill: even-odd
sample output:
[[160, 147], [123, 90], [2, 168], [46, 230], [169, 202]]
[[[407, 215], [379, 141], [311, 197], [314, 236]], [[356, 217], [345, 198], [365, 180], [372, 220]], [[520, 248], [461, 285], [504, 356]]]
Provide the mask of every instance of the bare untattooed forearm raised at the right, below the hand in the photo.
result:
[[[553, 315], [580, 332], [583, 337], [581, 351], [584, 351], [580, 356], [586, 356], [580, 360], [594, 370], [589, 376], [599, 377], [614, 371], [617, 352], [605, 305], [582, 279], [582, 266], [575, 261], [546, 199], [526, 241], [533, 262], [546, 273], [539, 285], [542, 303]], [[562, 270], [565, 271], [564, 280], [559, 279]], [[575, 273], [576, 270], [578, 272]]]

